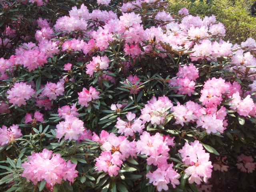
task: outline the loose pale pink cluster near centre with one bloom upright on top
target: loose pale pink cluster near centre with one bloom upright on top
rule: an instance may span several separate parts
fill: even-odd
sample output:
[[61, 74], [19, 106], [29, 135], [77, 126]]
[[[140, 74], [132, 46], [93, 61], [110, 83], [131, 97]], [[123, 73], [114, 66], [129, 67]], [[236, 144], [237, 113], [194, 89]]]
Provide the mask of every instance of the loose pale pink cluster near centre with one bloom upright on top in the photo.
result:
[[142, 134], [142, 129], [145, 128], [142, 120], [139, 118], [136, 119], [136, 114], [132, 112], [128, 112], [128, 114], [126, 114], [126, 118], [129, 122], [117, 118], [118, 121], [116, 122], [116, 128], [118, 129], [118, 133], [124, 134], [124, 136], [134, 136], [134, 133], [136, 132]]

